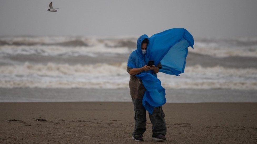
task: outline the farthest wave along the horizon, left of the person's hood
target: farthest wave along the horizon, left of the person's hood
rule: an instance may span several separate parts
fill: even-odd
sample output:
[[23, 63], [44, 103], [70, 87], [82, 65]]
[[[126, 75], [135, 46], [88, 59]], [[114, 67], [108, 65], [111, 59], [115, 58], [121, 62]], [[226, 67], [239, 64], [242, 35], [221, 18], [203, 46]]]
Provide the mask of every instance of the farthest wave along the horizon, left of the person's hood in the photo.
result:
[[136, 47], [135, 38], [106, 38], [106, 39], [96, 39], [96, 38], [86, 38], [86, 37], [69, 37], [69, 36], [19, 36], [19, 37], [3, 37], [0, 38], [0, 46], [13, 45], [13, 46], [94, 46], [98, 44], [103, 44], [106, 47]]

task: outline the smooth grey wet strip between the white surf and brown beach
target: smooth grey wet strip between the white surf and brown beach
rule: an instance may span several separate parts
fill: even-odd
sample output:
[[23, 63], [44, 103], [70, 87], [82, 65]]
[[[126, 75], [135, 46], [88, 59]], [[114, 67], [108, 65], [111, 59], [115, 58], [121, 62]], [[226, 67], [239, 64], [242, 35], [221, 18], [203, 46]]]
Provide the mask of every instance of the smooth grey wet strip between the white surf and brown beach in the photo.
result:
[[[166, 89], [167, 103], [257, 102], [257, 90]], [[0, 102], [131, 102], [129, 89], [0, 88]]]

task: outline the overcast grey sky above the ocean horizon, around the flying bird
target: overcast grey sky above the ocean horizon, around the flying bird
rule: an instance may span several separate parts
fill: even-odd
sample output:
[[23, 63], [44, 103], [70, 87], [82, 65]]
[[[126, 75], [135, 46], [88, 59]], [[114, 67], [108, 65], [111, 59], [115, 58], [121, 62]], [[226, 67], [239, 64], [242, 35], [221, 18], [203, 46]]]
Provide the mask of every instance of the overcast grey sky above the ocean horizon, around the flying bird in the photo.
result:
[[195, 38], [257, 37], [256, 0], [0, 0], [0, 35], [140, 36], [185, 28]]

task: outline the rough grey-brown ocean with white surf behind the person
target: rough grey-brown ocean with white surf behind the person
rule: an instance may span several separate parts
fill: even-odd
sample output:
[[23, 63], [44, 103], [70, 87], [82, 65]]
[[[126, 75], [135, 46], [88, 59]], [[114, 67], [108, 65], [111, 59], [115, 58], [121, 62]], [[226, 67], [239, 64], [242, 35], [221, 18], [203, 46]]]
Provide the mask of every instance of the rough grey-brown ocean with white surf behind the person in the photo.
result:
[[[8, 90], [14, 89], [58, 89], [63, 90], [63, 93], [69, 89], [85, 89], [90, 91], [90, 95], [95, 93], [90, 89], [101, 92], [108, 90], [110, 93], [102, 97], [110, 100], [115, 97], [112, 92], [123, 89], [120, 97], [125, 99], [119, 97], [113, 98], [113, 101], [131, 101], [128, 91], [130, 76], [126, 67], [130, 53], [136, 49], [136, 41], [137, 38], [133, 37], [2, 36], [0, 102], [24, 102], [24, 99], [25, 102], [35, 101], [29, 94], [23, 94], [22, 98], [19, 96], [17, 99], [15, 94], [11, 97]], [[219, 90], [223, 91], [224, 102], [234, 102], [226, 97], [226, 92], [240, 91], [249, 95], [250, 99], [240, 98], [237, 102], [257, 102], [257, 96], [254, 95], [257, 92], [257, 38], [195, 39], [194, 49], [188, 49], [184, 73], [180, 76], [161, 72], [157, 74], [162, 86], [170, 92], [166, 97], [172, 97], [172, 90], [176, 93], [188, 90], [192, 95], [193, 92], [206, 93], [208, 90], [215, 94], [215, 90]], [[20, 92], [26, 93], [24, 90]], [[188, 101], [185, 95], [190, 93], [177, 95], [184, 99], [167, 101], [213, 101], [207, 97]], [[53, 96], [50, 101], [90, 101], [87, 94], [79, 97], [57, 99]], [[104, 99], [96, 98], [93, 101]], [[217, 100], [220, 97], [217, 96]], [[36, 101], [49, 101], [49, 97], [41, 97]]]

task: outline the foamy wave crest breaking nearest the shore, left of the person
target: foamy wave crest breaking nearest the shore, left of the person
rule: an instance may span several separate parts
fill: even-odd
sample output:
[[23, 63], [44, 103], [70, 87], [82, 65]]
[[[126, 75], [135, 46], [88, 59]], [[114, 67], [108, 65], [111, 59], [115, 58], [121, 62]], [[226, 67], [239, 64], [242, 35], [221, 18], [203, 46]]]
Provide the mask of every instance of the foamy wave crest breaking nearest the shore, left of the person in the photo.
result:
[[68, 65], [55, 63], [48, 63], [47, 65], [33, 65], [26, 62], [24, 65], [1, 66], [0, 73], [20, 76], [31, 74], [38, 76], [113, 76], [122, 73], [126, 74], [126, 67], [126, 63], [117, 63], [112, 65], [106, 63], [97, 63], [95, 65]]

